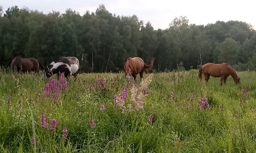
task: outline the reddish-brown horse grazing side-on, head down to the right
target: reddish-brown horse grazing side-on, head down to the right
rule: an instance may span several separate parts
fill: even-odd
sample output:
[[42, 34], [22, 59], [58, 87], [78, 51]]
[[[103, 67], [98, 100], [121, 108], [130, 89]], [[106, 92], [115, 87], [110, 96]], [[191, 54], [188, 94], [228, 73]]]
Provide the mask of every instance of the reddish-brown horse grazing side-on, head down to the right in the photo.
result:
[[222, 64], [213, 64], [207, 63], [201, 66], [199, 69], [199, 80], [202, 81], [202, 73], [204, 75], [204, 80], [207, 82], [210, 76], [213, 77], [221, 77], [221, 85], [224, 80], [224, 84], [226, 84], [227, 77], [232, 76], [235, 84], [240, 83], [240, 78], [237, 76], [234, 68], [232, 68], [227, 63]]

